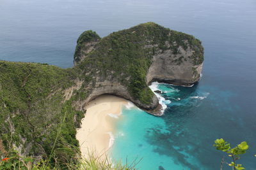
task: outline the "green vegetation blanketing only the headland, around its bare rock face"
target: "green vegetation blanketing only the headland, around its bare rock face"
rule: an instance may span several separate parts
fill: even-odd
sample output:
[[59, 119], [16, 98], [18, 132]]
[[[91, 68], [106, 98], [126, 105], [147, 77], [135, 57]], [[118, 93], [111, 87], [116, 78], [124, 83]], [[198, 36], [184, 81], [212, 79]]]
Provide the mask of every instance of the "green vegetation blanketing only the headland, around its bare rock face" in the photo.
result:
[[[77, 43], [77, 46], [80, 45]], [[153, 55], [163, 53], [164, 50], [172, 50], [176, 55], [179, 53], [179, 46], [195, 51], [190, 56], [191, 62], [195, 65], [202, 64], [204, 49], [198, 39], [148, 22], [113, 32], [100, 39], [95, 45], [97, 50], [86, 54], [86, 59], [77, 67], [84, 73], [90, 71], [94, 75], [99, 71], [97, 76], [105, 79], [109, 73], [113, 73], [109, 81], [120, 81], [127, 86], [132, 97], [139, 99], [143, 104], [150, 104], [153, 93], [147, 87], [146, 76]], [[76, 57], [78, 56], [75, 53]], [[183, 60], [187, 59], [182, 56], [176, 59], [176, 62], [181, 64]]]

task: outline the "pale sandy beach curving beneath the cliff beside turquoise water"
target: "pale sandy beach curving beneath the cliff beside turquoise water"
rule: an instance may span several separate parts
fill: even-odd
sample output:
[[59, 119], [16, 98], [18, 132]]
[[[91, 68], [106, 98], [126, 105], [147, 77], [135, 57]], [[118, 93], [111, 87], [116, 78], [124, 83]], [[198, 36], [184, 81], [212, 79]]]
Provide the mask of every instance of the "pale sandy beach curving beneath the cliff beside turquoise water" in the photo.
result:
[[86, 105], [86, 115], [76, 134], [83, 157], [88, 156], [88, 151], [93, 151], [97, 155], [108, 152], [113, 144], [111, 141], [113, 122], [121, 113], [124, 104], [128, 104], [125, 99], [102, 95]]

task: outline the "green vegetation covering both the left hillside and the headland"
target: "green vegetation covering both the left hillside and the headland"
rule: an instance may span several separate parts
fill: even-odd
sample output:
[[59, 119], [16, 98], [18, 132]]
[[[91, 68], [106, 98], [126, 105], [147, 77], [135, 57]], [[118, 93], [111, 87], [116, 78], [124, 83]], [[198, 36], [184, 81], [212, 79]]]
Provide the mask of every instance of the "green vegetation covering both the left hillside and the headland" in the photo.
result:
[[[5, 155], [4, 150], [14, 147], [22, 148], [19, 152], [28, 157], [42, 157], [49, 168], [56, 164], [65, 167], [67, 162], [78, 164], [74, 159], [80, 154], [76, 128], [84, 113], [76, 109], [76, 103], [91, 94], [96, 78], [116, 81], [127, 87], [135, 100], [150, 104], [154, 94], [147, 86], [146, 76], [153, 55], [165, 50], [172, 50], [176, 55], [181, 46], [194, 51], [193, 64], [201, 64], [204, 59], [198, 39], [152, 22], [113, 32], [102, 39], [96, 32], [85, 31], [77, 39], [75, 60], [82, 55], [86, 43], [95, 41], [95, 50], [88, 50], [86, 58], [70, 69], [0, 61], [0, 156]], [[181, 64], [183, 60], [180, 57], [177, 62]], [[65, 100], [65, 90], [76, 86], [76, 81], [83, 82], [81, 89], [74, 90]], [[1, 162], [3, 167], [10, 166], [8, 163], [17, 158], [12, 157], [8, 162]], [[22, 161], [22, 166], [33, 162]], [[12, 162], [13, 165], [17, 162]]]

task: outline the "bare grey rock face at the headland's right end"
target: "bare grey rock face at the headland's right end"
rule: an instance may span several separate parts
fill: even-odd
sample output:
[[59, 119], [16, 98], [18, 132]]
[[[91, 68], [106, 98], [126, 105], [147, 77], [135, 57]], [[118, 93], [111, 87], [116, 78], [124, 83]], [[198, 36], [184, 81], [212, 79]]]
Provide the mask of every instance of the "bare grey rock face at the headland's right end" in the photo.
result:
[[192, 85], [198, 81], [203, 64], [193, 64], [191, 48], [184, 50], [179, 46], [179, 52], [174, 55], [171, 50], [166, 50], [154, 55], [153, 62], [148, 69], [147, 83], [160, 81], [174, 85]]

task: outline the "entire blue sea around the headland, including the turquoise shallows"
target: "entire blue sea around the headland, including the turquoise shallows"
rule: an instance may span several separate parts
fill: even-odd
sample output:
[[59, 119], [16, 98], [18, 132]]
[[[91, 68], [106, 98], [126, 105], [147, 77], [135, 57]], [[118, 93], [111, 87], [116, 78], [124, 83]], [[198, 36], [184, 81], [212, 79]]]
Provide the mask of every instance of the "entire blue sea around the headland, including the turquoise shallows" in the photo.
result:
[[202, 41], [202, 78], [193, 87], [155, 84], [163, 117], [124, 107], [113, 158], [138, 156], [143, 170], [215, 170], [223, 153], [212, 144], [224, 138], [247, 141], [238, 162], [256, 169], [255, 0], [0, 0], [0, 60], [72, 67], [81, 32], [107, 36], [148, 21]]

